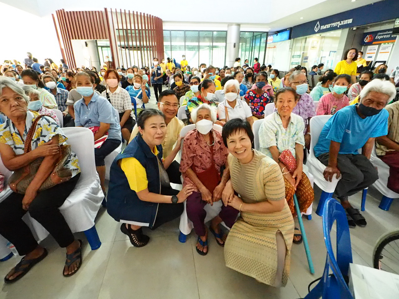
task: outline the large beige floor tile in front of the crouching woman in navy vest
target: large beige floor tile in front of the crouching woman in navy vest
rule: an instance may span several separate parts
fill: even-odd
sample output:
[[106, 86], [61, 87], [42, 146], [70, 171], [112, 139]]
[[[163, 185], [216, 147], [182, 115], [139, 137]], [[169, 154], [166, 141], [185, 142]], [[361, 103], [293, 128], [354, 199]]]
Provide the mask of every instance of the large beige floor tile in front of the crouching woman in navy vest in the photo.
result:
[[170, 236], [152, 238], [143, 248], [114, 242], [99, 294], [111, 298], [199, 299], [190, 242]]

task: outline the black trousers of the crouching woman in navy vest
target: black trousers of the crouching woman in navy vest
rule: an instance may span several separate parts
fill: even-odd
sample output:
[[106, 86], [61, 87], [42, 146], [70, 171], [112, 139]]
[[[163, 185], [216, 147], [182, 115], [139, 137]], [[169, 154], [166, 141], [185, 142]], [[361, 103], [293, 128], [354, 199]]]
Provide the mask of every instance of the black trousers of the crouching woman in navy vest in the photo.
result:
[[[161, 189], [162, 195], [177, 195], [179, 190], [172, 188], [164, 188]], [[158, 205], [158, 212], [156, 214], [156, 219], [154, 226], [152, 226], [151, 230], [154, 230], [160, 227], [162, 224], [172, 221], [177, 217], [180, 217], [184, 210], [183, 203], [160, 203]]]

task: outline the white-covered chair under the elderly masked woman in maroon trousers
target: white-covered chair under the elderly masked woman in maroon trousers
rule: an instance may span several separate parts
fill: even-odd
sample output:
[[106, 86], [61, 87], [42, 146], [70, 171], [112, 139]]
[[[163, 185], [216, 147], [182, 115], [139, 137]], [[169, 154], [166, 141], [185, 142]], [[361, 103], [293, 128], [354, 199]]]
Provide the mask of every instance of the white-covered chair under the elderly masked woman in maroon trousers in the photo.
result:
[[[195, 124], [190, 124], [188, 126], [183, 127], [182, 130], [180, 131], [180, 137], [186, 136], [188, 132], [190, 132], [191, 130], [194, 130], [195, 128], [196, 128]], [[218, 124], [214, 124], [213, 130], [222, 132], [222, 126], [220, 126]], [[182, 143], [182, 145], [183, 145], [183, 143]], [[205, 222], [208, 222], [209, 220], [215, 218], [215, 216], [217, 216], [219, 214], [221, 207], [222, 207], [222, 201], [217, 201], [216, 203], [213, 204], [213, 206], [205, 205], [205, 208], [204, 208], [206, 211]], [[224, 225], [223, 222], [222, 222], [222, 224]], [[190, 234], [191, 230], [194, 228], [193, 223], [187, 217], [186, 201], [184, 201], [184, 211], [183, 211], [182, 215], [180, 216], [179, 228], [180, 228], [179, 241], [184, 243], [184, 242], [186, 242], [187, 235]]]

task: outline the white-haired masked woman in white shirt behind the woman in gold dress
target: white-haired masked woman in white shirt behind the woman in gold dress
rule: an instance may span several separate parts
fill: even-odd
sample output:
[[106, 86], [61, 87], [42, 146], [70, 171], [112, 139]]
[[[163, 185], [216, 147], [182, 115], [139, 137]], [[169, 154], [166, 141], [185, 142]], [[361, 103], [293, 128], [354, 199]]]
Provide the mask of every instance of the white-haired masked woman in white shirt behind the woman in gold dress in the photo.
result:
[[223, 90], [225, 99], [217, 106], [219, 120], [227, 122], [233, 118], [246, 119], [252, 127], [253, 118], [251, 108], [239, 96], [240, 83], [235, 79], [229, 80], [225, 83]]

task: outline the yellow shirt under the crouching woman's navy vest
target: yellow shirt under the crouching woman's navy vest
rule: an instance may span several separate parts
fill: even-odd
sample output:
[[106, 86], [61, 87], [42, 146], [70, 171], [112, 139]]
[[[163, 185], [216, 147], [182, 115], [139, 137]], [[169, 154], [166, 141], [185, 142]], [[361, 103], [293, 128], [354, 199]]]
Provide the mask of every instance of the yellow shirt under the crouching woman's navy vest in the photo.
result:
[[[154, 153], [154, 155], [158, 155], [158, 149], [156, 146], [152, 149], [152, 153]], [[130, 189], [136, 192], [147, 189], [148, 180], [146, 169], [136, 158], [123, 158], [120, 160], [120, 168], [126, 175]]]

